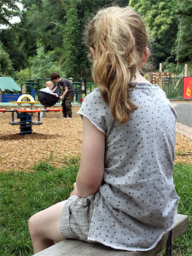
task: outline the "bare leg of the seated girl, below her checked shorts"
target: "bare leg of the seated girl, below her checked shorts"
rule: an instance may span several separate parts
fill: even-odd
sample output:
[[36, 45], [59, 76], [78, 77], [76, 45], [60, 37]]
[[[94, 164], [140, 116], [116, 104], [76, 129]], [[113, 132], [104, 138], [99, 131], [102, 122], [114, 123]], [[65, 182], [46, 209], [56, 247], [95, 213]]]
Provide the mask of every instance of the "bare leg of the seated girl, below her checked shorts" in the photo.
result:
[[63, 240], [60, 232], [61, 212], [65, 201], [61, 201], [29, 219], [29, 231], [32, 237], [34, 253], [38, 253]]

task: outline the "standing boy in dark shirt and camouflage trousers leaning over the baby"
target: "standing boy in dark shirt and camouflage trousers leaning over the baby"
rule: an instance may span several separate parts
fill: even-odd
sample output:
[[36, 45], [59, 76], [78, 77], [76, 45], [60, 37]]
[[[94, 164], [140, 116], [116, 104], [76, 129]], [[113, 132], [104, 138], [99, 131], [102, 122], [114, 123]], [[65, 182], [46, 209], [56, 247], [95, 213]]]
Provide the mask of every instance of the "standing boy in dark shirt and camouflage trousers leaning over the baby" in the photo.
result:
[[58, 87], [62, 90], [62, 94], [60, 96], [62, 100], [62, 118], [72, 118], [72, 102], [75, 93], [73, 84], [67, 79], [60, 78], [58, 73], [52, 73], [50, 78], [57, 84], [53, 91], [57, 90]]

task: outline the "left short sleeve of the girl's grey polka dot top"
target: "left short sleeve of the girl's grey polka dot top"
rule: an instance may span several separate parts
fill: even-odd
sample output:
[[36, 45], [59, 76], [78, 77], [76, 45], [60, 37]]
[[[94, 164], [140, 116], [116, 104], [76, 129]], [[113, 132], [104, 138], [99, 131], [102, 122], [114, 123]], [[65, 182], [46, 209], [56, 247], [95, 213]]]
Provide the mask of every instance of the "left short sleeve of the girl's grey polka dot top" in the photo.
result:
[[107, 133], [111, 114], [108, 104], [103, 101], [101, 92], [98, 88], [93, 90], [84, 98], [84, 102], [82, 103], [78, 114], [81, 116], [81, 118], [85, 116], [86, 118], [90, 119], [90, 122], [93, 125], [96, 125], [96, 128], [99, 131], [102, 131], [104, 134]]

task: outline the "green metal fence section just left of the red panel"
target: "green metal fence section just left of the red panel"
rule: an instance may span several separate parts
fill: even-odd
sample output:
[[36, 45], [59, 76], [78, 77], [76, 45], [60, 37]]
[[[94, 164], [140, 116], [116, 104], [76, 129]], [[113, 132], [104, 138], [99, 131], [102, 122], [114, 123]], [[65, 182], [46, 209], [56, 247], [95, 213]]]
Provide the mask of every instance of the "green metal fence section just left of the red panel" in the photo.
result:
[[183, 99], [183, 78], [164, 78], [162, 79], [162, 89], [166, 92], [168, 99]]

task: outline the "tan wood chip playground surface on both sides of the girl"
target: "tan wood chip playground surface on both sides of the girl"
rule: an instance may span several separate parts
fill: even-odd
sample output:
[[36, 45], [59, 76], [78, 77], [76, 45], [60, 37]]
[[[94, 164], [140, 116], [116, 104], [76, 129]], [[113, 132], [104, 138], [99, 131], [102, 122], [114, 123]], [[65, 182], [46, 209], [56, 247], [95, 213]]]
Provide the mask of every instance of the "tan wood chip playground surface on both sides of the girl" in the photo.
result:
[[[80, 155], [83, 124], [78, 110], [78, 106], [73, 106], [72, 119], [61, 119], [61, 112], [45, 113], [43, 125], [33, 125], [32, 134], [27, 135], [19, 135], [20, 125], [9, 125], [10, 112], [0, 113], [0, 172], [31, 172], [32, 166], [41, 160], [61, 167], [67, 157]], [[34, 113], [32, 121], [37, 120], [38, 113]], [[179, 134], [175, 162], [192, 164], [192, 141]]]

